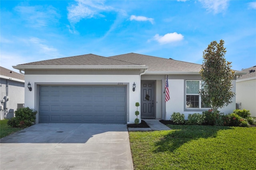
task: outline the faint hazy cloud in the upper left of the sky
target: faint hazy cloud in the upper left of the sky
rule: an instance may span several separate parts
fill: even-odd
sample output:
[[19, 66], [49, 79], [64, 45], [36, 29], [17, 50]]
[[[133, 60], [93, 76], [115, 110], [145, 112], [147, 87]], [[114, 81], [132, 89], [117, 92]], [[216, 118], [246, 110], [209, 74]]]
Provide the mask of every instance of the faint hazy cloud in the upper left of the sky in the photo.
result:
[[56, 24], [60, 15], [52, 6], [16, 6], [15, 10], [30, 27], [42, 28], [49, 24]]

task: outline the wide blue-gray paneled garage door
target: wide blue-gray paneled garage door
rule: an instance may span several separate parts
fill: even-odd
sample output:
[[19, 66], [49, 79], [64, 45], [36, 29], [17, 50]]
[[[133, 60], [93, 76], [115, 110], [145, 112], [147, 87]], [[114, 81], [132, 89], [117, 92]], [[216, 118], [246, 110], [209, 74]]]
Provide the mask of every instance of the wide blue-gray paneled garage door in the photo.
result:
[[39, 123], [126, 123], [126, 86], [41, 85]]

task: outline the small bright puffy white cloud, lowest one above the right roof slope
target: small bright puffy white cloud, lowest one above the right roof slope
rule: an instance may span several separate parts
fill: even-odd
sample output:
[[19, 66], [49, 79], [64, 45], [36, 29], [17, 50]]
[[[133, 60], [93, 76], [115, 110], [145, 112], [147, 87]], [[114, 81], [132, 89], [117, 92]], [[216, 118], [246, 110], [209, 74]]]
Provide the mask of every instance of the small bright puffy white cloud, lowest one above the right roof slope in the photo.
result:
[[182, 34], [178, 34], [176, 32], [174, 33], [168, 33], [165, 34], [164, 36], [159, 36], [159, 34], [156, 34], [154, 36], [154, 40], [156, 40], [159, 43], [166, 44], [166, 43], [171, 43], [171, 42], [178, 42], [183, 40], [184, 36]]

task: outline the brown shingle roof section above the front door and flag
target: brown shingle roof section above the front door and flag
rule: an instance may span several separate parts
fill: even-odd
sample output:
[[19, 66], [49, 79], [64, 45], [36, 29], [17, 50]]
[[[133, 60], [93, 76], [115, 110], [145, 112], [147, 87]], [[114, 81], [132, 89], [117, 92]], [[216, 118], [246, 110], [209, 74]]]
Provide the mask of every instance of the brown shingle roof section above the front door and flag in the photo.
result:
[[108, 57], [108, 58], [147, 65], [148, 71], [199, 72], [201, 70], [200, 64], [178, 61], [178, 60], [174, 60], [174, 59], [153, 57], [150, 55], [142, 55], [142, 54], [137, 54], [137, 53], [115, 55], [115, 56]]

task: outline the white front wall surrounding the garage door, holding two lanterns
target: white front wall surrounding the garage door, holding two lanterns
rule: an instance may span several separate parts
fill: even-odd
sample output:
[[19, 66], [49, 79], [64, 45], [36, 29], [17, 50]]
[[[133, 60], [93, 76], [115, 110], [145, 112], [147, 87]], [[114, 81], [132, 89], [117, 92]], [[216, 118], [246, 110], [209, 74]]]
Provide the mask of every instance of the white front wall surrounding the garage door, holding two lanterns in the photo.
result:
[[[112, 85], [118, 85], [118, 83], [128, 83], [127, 97], [129, 99], [127, 105], [127, 122], [134, 123], [136, 119], [136, 102], [140, 102], [140, 76], [139, 75], [25, 75], [25, 85], [30, 82], [32, 91], [25, 91], [25, 107], [30, 107], [38, 110], [38, 89], [36, 85], [40, 84], [81, 84], [85, 85], [98, 85], [109, 83]], [[136, 90], [132, 91], [132, 84], [135, 82]], [[139, 108], [140, 110], [140, 108]], [[37, 120], [38, 123], [38, 115]]]

